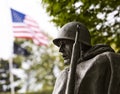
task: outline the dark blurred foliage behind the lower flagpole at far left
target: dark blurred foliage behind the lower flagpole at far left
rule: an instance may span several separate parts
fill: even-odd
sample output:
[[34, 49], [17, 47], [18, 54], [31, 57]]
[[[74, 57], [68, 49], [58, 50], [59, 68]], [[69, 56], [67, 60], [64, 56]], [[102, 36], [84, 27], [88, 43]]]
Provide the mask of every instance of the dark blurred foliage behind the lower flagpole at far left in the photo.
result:
[[[20, 67], [19, 64], [13, 62], [14, 68]], [[18, 81], [19, 78], [14, 76], [14, 81]], [[9, 72], [9, 62], [7, 60], [0, 60], [0, 92], [10, 92], [10, 72]], [[19, 90], [20, 86], [15, 86], [15, 91]]]

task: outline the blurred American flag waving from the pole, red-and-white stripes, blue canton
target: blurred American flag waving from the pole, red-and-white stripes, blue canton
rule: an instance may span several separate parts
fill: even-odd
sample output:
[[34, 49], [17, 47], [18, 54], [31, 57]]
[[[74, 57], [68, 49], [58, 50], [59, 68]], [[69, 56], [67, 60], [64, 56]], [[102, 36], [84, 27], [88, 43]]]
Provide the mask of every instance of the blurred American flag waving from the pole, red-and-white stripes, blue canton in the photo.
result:
[[30, 16], [11, 9], [14, 37], [32, 39], [37, 45], [47, 45], [48, 38]]

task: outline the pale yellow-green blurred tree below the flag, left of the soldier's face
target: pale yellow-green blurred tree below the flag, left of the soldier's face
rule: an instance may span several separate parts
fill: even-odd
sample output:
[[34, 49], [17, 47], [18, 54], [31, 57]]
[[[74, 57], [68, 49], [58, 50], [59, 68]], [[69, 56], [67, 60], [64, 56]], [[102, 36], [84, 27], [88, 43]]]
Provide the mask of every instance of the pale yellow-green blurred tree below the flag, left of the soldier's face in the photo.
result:
[[[49, 37], [49, 40], [52, 38]], [[23, 39], [17, 39], [16, 42], [30, 52], [27, 57], [17, 56], [15, 59], [20, 60], [23, 66], [27, 65], [27, 67], [21, 67], [25, 75], [21, 80], [21, 87], [26, 89], [25, 92], [28, 94], [35, 93], [35, 91], [40, 91], [40, 94], [51, 94], [56, 76], [54, 70], [56, 67], [58, 70], [63, 68], [63, 59], [56, 51], [58, 49], [53, 46], [51, 41], [47, 46], [37, 46], [31, 41]]]

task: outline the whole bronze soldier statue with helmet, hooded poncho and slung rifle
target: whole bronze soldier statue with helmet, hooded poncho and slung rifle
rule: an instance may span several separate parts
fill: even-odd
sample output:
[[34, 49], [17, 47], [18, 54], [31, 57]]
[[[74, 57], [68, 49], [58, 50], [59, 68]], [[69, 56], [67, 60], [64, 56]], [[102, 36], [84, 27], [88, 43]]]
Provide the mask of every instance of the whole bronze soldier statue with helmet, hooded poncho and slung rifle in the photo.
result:
[[92, 46], [86, 26], [65, 24], [53, 43], [70, 65], [56, 79], [53, 94], [120, 94], [120, 54], [105, 44]]

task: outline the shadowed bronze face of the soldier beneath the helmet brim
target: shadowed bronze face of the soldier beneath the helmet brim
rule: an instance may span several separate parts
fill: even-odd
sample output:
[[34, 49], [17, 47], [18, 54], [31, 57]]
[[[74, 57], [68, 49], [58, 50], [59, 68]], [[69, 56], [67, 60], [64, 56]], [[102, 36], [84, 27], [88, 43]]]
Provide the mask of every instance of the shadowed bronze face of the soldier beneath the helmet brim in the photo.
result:
[[61, 40], [60, 41], [59, 52], [62, 53], [62, 56], [64, 58], [64, 63], [65, 64], [70, 64], [73, 43], [74, 42], [70, 41], [70, 40]]

